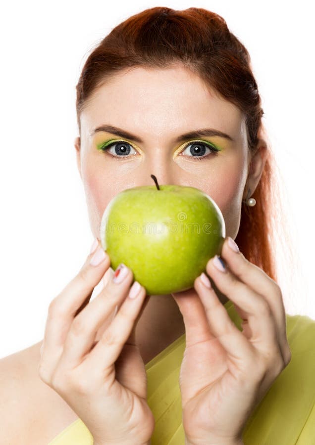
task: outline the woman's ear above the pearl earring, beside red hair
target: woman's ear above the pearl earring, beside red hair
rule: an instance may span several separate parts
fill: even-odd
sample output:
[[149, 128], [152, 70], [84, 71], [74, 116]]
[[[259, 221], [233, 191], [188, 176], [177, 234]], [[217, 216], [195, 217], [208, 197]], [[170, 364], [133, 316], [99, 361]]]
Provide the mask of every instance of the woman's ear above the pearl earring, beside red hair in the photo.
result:
[[[267, 158], [267, 142], [263, 138], [258, 139], [255, 151], [251, 154], [249, 173], [246, 181], [243, 199], [251, 197], [259, 184]], [[249, 193], [250, 190], [250, 193]]]

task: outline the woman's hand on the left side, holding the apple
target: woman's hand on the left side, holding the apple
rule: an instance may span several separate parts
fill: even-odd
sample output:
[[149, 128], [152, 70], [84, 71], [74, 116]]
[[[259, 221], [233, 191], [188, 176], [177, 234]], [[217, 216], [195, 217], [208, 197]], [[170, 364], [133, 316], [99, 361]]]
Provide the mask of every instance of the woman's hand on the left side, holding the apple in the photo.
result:
[[[129, 298], [133, 273], [126, 268], [122, 282], [113, 282], [112, 276], [88, 303], [110, 266], [99, 241], [98, 249], [50, 304], [39, 376], [78, 414], [94, 444], [148, 444], [155, 419], [147, 404], [147, 374], [135, 342], [146, 290], [141, 286], [136, 298]], [[91, 265], [98, 254], [102, 261]], [[104, 323], [107, 328], [95, 341]]]

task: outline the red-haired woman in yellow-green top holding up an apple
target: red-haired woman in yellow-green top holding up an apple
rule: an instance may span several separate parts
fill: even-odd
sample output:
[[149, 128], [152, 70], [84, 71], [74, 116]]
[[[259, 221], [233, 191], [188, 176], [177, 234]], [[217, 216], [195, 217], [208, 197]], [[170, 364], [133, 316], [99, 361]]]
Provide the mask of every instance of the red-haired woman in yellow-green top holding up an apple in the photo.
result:
[[[246, 48], [206, 9], [147, 9], [90, 54], [76, 105], [96, 239], [22, 352], [38, 366], [33, 403], [48, 406], [23, 443], [313, 443], [315, 322], [287, 315], [276, 283], [272, 154]], [[110, 199], [151, 174], [213, 197], [226, 239], [193, 288], [148, 297], [125, 265], [111, 273], [99, 233]], [[54, 416], [66, 427], [49, 429]]]

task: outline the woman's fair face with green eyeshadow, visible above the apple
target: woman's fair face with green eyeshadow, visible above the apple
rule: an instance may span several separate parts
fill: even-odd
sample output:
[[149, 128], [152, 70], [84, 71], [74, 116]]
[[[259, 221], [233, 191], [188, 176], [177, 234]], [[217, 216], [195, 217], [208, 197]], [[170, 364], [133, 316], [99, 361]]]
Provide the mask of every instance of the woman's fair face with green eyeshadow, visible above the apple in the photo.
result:
[[[139, 140], [113, 129], [96, 131], [104, 126]], [[229, 137], [205, 134], [178, 140], [200, 129]], [[100, 149], [114, 139], [124, 143], [115, 142], [107, 152]], [[81, 140], [76, 138], [75, 146], [95, 237], [100, 237], [111, 198], [126, 188], [155, 185], [151, 174], [159, 184], [188, 185], [210, 195], [223, 214], [226, 236], [236, 237], [251, 161], [245, 118], [184, 67], [136, 67], [106, 82], [81, 113]]]

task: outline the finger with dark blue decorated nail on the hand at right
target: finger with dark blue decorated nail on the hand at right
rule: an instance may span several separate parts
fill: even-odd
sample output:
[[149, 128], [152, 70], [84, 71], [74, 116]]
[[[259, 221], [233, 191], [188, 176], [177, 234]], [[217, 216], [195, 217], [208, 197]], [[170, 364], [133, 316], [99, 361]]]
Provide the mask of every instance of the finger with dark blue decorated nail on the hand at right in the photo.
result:
[[207, 273], [219, 291], [245, 313], [252, 332], [250, 342], [258, 344], [264, 352], [270, 351], [270, 348], [278, 343], [278, 338], [273, 314], [267, 301], [247, 284], [241, 282], [226, 265], [224, 271], [219, 270], [216, 265], [222, 267], [217, 256], [208, 262]]

